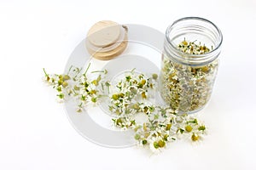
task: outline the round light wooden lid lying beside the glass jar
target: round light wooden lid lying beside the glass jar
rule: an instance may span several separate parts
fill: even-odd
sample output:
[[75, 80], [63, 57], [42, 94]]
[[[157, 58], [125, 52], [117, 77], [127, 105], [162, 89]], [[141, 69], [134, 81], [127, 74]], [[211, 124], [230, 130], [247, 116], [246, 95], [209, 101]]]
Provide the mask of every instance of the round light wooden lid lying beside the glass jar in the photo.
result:
[[102, 20], [90, 28], [86, 48], [96, 59], [113, 59], [127, 46], [127, 27], [111, 20]]

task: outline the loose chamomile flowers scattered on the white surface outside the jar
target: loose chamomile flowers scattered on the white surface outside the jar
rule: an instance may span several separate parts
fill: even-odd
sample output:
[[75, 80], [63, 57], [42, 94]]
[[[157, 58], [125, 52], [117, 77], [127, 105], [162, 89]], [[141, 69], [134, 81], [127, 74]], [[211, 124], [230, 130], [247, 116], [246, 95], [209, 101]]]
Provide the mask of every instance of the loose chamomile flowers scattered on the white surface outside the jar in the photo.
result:
[[[121, 130], [133, 129], [137, 144], [158, 153], [170, 142], [177, 139], [201, 140], [207, 127], [196, 116], [179, 115], [170, 106], [155, 105], [151, 96], [157, 87], [158, 76], [146, 76], [135, 70], [128, 71], [116, 84], [104, 79], [108, 71], [93, 71], [97, 77], [88, 75], [89, 66], [82, 69], [71, 67], [64, 75], [49, 75], [44, 70], [44, 81], [55, 88], [61, 102], [74, 98], [78, 102], [77, 111], [84, 111], [87, 105], [101, 102], [108, 94], [109, 111], [113, 115], [113, 125]], [[173, 75], [172, 82], [177, 80]], [[111, 90], [110, 88], [115, 87]], [[105, 99], [105, 98], [104, 98]], [[137, 122], [136, 116], [143, 114], [145, 120]]]

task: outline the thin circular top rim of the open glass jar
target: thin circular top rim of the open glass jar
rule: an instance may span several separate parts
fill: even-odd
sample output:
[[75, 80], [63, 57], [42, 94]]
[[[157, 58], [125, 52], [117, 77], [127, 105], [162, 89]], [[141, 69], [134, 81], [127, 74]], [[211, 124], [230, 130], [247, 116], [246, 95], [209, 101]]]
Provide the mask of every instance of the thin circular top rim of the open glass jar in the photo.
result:
[[[183, 54], [186, 54], [184, 53], [183, 51], [180, 51], [177, 49], [177, 47], [174, 47], [173, 44], [172, 44], [172, 41], [170, 39], [170, 37], [168, 37], [167, 35], [169, 35], [169, 32], [171, 31], [171, 28], [173, 26], [175, 26], [178, 22], [181, 22], [181, 21], [184, 21], [184, 20], [201, 20], [201, 21], [204, 21], [204, 22], [207, 22], [208, 24], [212, 25], [216, 31], [218, 32], [218, 36], [219, 36], [219, 42], [217, 44], [217, 46], [215, 48], [213, 48], [210, 52], [207, 53], [208, 54], [213, 54], [215, 53], [215, 51], [218, 50], [218, 48], [221, 47], [221, 44], [223, 42], [223, 35], [222, 35], [222, 32], [219, 30], [218, 26], [216, 26], [215, 24], [212, 23], [212, 21], [210, 20], [207, 20], [207, 19], [204, 19], [204, 18], [201, 18], [201, 17], [194, 17], [194, 16], [191, 16], [191, 17], [184, 17], [184, 18], [181, 18], [181, 19], [178, 19], [178, 20], [175, 20], [172, 25], [168, 26], [167, 29], [166, 29], [166, 40], [167, 42], [172, 46], [172, 48], [174, 50], [176, 50], [177, 53], [183, 53]], [[187, 56], [191, 56], [191, 57], [201, 57], [201, 56], [205, 56], [206, 54], [186, 54]]]

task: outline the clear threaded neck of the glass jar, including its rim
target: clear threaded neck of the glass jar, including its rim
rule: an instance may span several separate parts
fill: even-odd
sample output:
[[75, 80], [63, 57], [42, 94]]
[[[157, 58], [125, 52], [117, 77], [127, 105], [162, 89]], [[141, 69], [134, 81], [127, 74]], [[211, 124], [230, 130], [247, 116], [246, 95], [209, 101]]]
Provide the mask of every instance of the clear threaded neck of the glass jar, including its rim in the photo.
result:
[[[187, 54], [177, 48], [177, 44], [184, 40], [203, 42], [209, 48], [207, 54]], [[186, 17], [173, 22], [166, 29], [164, 49], [166, 55], [173, 61], [183, 65], [207, 65], [218, 58], [223, 41], [222, 33], [211, 21], [199, 17]]]

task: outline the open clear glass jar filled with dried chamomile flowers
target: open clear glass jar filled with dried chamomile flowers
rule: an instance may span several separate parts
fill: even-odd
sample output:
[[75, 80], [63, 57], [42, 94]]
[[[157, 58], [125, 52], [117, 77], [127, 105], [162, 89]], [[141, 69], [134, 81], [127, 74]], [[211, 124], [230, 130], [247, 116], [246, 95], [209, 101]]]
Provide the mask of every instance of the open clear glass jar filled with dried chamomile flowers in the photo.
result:
[[179, 113], [200, 111], [212, 94], [222, 33], [198, 17], [176, 20], [166, 30], [160, 94]]

